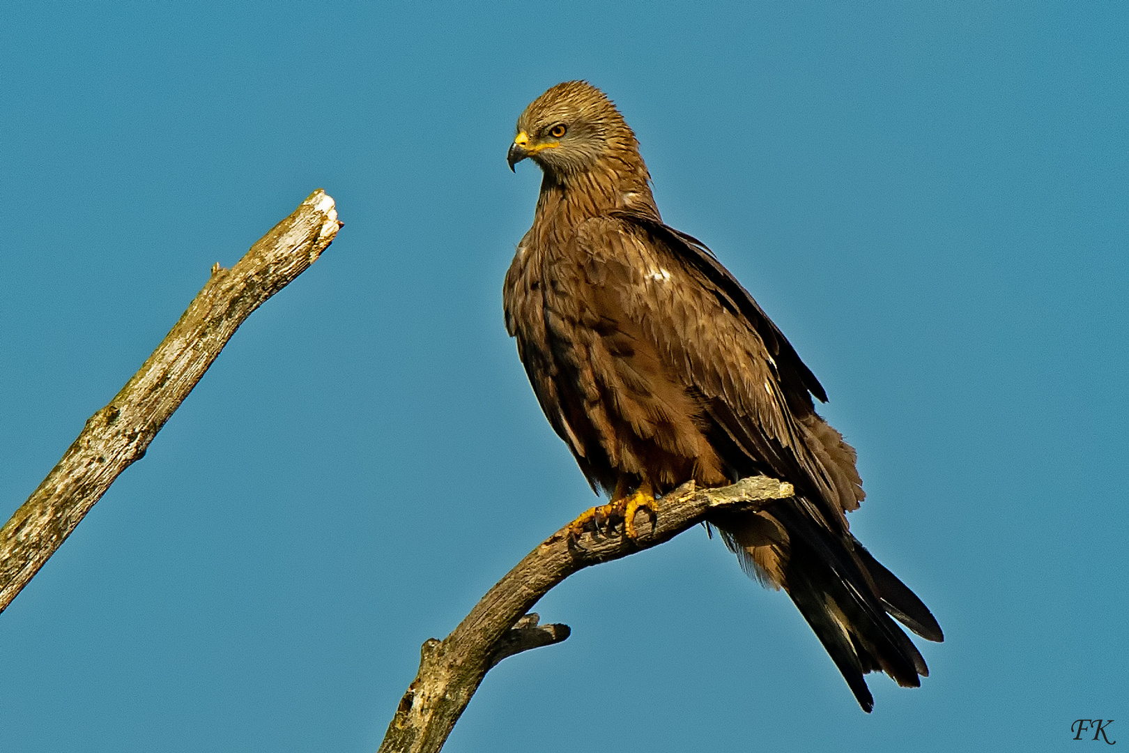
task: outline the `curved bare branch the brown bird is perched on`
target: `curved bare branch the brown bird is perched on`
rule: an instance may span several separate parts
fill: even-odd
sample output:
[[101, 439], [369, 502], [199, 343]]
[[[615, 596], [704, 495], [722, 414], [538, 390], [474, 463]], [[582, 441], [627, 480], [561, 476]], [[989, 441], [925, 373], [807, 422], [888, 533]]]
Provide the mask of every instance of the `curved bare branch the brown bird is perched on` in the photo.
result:
[[568, 526], [530, 552], [482, 597], [444, 640], [420, 650], [420, 671], [388, 725], [379, 753], [436, 753], [454, 728], [487, 672], [507, 656], [568, 638], [567, 625], [537, 627], [527, 614], [542, 596], [574, 572], [669, 541], [712, 515], [755, 509], [794, 494], [791, 484], [754, 476], [732, 487], [695, 490], [685, 484], [637, 514], [631, 541], [616, 532], [585, 533]]

